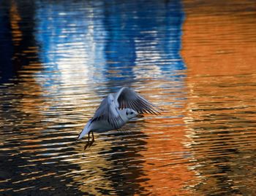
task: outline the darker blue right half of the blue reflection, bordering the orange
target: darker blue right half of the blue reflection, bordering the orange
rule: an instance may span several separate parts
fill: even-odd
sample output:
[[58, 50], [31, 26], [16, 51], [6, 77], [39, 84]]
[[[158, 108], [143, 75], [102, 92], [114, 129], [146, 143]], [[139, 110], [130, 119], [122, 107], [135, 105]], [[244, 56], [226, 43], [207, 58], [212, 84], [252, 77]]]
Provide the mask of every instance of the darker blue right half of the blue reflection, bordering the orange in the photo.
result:
[[[159, 66], [161, 70], [184, 69], [179, 55], [181, 46], [181, 26], [184, 13], [178, 1], [136, 1], [130, 4], [135, 9], [127, 12], [127, 5], [106, 7], [105, 28], [108, 42], [105, 58], [108, 69], [121, 68], [122, 77], [105, 74], [110, 80], [134, 77], [132, 66]], [[143, 51], [149, 53], [138, 57]], [[159, 58], [154, 58], [156, 55]], [[145, 63], [146, 62], [146, 63]], [[170, 76], [170, 72], [166, 74]]]

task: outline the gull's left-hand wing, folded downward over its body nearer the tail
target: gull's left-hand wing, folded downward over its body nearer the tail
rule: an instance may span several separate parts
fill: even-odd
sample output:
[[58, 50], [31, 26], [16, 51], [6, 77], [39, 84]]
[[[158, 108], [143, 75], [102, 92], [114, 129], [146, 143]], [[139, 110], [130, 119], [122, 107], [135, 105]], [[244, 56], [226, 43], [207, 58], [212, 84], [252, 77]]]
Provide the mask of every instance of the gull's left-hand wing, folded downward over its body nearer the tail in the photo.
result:
[[100, 103], [99, 108], [95, 111], [91, 121], [98, 120], [108, 121], [113, 128], [118, 128], [118, 122], [123, 122], [123, 119], [121, 119], [118, 112], [118, 108], [114, 103], [113, 95], [110, 94], [108, 97], [104, 98], [102, 103]]

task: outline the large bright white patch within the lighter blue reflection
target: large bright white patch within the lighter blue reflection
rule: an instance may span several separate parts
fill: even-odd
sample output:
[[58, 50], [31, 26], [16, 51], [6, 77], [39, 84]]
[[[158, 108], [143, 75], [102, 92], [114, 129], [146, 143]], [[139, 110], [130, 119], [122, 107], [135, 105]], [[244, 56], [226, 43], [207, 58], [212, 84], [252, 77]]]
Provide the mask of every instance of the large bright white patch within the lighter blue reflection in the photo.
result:
[[[93, 15], [93, 12], [90, 12], [89, 18], [93, 18]], [[61, 72], [61, 83], [65, 85], [88, 84], [93, 81], [94, 74], [91, 71], [97, 47], [94, 40], [94, 21], [87, 22], [88, 31], [82, 36], [83, 39], [77, 42], [75, 36], [70, 36], [72, 39], [69, 39], [69, 43], [72, 44], [64, 45], [62, 52], [65, 55], [56, 62]], [[78, 28], [74, 28], [73, 32], [79, 35], [75, 30]]]

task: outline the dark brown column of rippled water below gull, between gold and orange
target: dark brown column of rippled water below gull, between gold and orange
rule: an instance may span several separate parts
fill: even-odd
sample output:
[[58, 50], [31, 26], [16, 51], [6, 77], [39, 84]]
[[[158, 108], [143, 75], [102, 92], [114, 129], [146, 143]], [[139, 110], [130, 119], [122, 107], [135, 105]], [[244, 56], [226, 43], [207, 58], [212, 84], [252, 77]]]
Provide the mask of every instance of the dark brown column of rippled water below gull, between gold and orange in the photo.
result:
[[[143, 192], [140, 187], [143, 176], [143, 156], [140, 151], [146, 150], [145, 133], [135, 129], [133, 123], [125, 125], [122, 130], [113, 131], [108, 134], [111, 147], [108, 151], [99, 152], [105, 160], [113, 165], [113, 168], [104, 171], [105, 178], [108, 178], [113, 185], [117, 195], [135, 195]], [[107, 194], [103, 189], [102, 194]]]

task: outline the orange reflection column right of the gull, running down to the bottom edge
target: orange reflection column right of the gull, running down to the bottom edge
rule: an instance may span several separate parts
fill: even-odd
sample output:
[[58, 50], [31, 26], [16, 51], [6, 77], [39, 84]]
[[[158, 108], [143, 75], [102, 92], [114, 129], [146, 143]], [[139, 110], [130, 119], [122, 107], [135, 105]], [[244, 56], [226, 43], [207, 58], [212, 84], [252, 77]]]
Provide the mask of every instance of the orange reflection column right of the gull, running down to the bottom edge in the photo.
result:
[[[180, 84], [169, 82], [166, 85]], [[151, 94], [159, 95], [157, 101], [161, 103], [173, 104], [162, 106], [164, 111], [161, 117], [145, 118], [146, 127], [141, 131], [148, 135], [147, 148], [140, 154], [145, 160], [143, 170], [146, 176], [141, 176], [141, 179], [148, 180], [140, 185], [151, 195], [191, 195], [188, 187], [195, 185], [196, 179], [195, 173], [188, 168], [191, 154], [184, 145], [189, 142], [182, 116], [185, 114], [186, 101], [178, 103], [176, 98], [181, 95], [176, 95], [175, 90], [170, 93], [163, 88], [157, 88]]]

